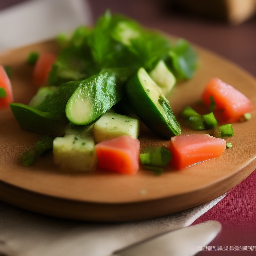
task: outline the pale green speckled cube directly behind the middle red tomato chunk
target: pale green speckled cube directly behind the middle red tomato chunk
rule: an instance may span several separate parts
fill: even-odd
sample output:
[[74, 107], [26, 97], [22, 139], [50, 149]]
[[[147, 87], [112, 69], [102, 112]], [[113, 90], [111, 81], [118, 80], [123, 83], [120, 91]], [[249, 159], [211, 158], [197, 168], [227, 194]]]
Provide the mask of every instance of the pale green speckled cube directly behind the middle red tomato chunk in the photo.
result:
[[137, 139], [139, 131], [140, 123], [137, 119], [116, 113], [105, 113], [95, 122], [95, 143], [124, 135]]

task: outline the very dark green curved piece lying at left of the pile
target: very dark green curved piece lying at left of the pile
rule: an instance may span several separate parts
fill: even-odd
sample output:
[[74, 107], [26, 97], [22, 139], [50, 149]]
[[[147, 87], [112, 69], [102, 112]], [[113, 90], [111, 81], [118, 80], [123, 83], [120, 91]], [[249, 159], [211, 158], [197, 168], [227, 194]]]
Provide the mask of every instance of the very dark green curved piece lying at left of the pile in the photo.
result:
[[21, 103], [11, 103], [11, 111], [22, 129], [39, 133], [62, 134], [68, 120], [55, 113], [42, 112]]

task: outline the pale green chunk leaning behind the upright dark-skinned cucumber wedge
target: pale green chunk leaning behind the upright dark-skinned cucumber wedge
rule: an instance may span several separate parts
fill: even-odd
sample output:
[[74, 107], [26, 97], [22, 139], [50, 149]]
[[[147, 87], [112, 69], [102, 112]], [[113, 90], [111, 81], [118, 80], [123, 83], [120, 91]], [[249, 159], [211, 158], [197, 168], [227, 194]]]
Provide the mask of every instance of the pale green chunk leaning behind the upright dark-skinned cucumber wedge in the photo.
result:
[[166, 97], [176, 84], [176, 78], [165, 65], [163, 60], [160, 60], [155, 68], [149, 73], [151, 78], [161, 88], [162, 94]]

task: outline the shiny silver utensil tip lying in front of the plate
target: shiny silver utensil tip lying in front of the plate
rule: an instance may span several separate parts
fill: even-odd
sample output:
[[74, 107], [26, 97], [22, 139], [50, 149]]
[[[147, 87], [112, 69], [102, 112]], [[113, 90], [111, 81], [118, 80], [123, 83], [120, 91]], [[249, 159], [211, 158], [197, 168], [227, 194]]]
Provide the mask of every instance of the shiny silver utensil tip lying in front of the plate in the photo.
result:
[[181, 228], [114, 252], [111, 256], [193, 256], [220, 232], [218, 221]]

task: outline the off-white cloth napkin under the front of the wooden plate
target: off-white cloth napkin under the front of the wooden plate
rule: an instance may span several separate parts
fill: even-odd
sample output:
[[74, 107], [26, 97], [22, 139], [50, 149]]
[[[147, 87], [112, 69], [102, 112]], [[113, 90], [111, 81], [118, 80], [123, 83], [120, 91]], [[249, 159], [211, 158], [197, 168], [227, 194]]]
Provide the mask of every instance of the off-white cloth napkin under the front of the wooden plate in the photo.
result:
[[0, 202], [0, 252], [18, 256], [108, 256], [134, 243], [191, 225], [224, 196], [165, 217], [128, 223], [64, 220]]

